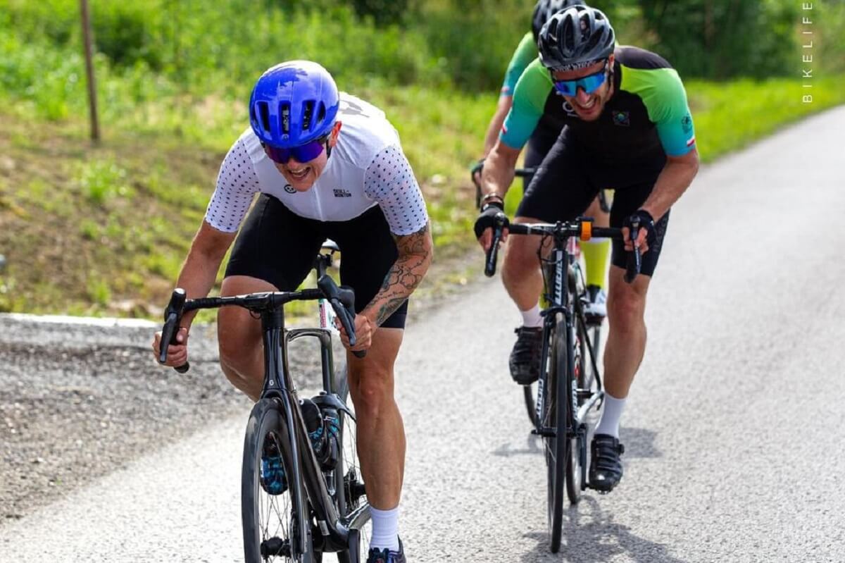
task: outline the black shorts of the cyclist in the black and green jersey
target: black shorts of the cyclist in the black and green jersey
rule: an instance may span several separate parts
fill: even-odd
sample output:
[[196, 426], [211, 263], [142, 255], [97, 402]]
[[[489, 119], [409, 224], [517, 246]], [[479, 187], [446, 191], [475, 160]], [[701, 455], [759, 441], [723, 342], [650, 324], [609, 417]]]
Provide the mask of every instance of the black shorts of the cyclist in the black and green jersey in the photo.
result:
[[[552, 150], [543, 159], [522, 197], [516, 216], [540, 221], [571, 221], [581, 216], [600, 189], [613, 189], [613, 206], [610, 226], [622, 227], [622, 221], [640, 209], [654, 189], [657, 176], [666, 165], [666, 159], [646, 162], [607, 163], [581, 152], [566, 134], [561, 132]], [[654, 275], [669, 213], [655, 221], [657, 239], [643, 254], [641, 273]], [[613, 239], [611, 262], [625, 267], [624, 243]]]

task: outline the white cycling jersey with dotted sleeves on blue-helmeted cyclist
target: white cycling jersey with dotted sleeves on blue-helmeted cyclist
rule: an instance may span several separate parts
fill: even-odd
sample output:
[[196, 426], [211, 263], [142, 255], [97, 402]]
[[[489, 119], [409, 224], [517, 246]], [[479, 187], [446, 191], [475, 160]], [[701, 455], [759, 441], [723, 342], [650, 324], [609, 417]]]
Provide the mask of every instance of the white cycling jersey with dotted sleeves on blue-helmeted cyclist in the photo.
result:
[[306, 192], [291, 188], [252, 128], [244, 131], [221, 165], [205, 221], [219, 231], [237, 231], [254, 194], [262, 192], [297, 215], [318, 221], [349, 221], [379, 205], [396, 235], [425, 227], [423, 194], [384, 112], [341, 92], [337, 119], [343, 123], [337, 145]]

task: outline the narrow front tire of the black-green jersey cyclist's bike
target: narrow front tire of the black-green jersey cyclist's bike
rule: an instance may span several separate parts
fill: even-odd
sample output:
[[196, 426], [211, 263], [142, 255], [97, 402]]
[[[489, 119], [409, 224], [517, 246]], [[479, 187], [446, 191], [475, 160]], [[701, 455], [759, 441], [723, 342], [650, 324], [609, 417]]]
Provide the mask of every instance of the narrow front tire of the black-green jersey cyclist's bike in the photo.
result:
[[[566, 436], [567, 392], [565, 385], [568, 359], [566, 354], [566, 321], [558, 314], [550, 336], [548, 378], [544, 387], [546, 405], [544, 426], [553, 426], [553, 436], [544, 436], [547, 470], [547, 508], [549, 528], [549, 550], [558, 553], [564, 522], [564, 481], [566, 478], [566, 450], [569, 440]], [[551, 400], [549, 400], [551, 399]], [[552, 423], [552, 424], [549, 424]]]

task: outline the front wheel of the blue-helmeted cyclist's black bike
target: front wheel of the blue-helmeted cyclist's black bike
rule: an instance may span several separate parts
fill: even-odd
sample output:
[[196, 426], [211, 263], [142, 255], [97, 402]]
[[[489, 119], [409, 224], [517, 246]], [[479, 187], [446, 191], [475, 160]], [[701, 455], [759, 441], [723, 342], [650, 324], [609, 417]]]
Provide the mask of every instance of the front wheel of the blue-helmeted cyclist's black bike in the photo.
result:
[[[282, 435], [281, 416], [275, 399], [264, 398], [256, 402], [249, 414], [243, 442], [241, 476], [241, 516], [243, 521], [243, 552], [247, 563], [293, 561], [315, 563], [311, 545], [310, 517], [303, 484], [292, 478], [292, 456], [287, 438]], [[275, 445], [281, 454], [282, 467], [287, 478], [287, 490], [281, 495], [270, 495], [260, 483], [261, 457], [266, 444]], [[285, 500], [287, 502], [285, 502]], [[267, 522], [263, 522], [266, 517]], [[278, 519], [270, 527], [270, 519]], [[274, 534], [270, 537], [270, 533]], [[300, 534], [300, 531], [303, 531]], [[279, 538], [278, 533], [283, 537]], [[301, 536], [298, 537], [297, 536]], [[262, 555], [262, 546], [287, 545], [288, 554]]]

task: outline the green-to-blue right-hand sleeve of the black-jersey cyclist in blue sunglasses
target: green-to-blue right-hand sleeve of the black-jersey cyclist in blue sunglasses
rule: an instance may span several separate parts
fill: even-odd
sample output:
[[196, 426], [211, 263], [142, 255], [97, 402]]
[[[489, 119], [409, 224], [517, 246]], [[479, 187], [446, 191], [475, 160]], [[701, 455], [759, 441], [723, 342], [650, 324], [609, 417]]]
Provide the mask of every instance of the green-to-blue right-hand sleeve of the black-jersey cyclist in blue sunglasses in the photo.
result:
[[695, 126], [686, 90], [674, 68], [624, 68], [624, 90], [635, 91], [657, 126], [668, 156], [684, 156], [695, 147]]

